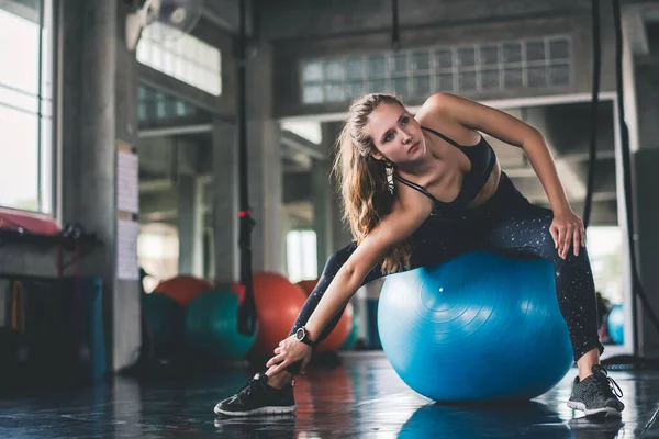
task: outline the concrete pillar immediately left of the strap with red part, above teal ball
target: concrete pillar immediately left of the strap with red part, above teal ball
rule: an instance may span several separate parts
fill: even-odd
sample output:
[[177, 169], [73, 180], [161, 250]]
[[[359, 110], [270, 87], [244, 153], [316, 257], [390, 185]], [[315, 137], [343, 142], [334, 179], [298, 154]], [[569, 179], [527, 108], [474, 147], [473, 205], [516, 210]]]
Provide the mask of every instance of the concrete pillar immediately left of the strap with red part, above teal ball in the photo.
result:
[[235, 126], [213, 122], [213, 254], [215, 283], [238, 280], [238, 153]]

